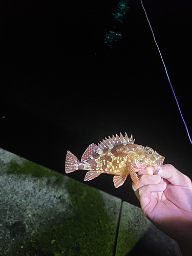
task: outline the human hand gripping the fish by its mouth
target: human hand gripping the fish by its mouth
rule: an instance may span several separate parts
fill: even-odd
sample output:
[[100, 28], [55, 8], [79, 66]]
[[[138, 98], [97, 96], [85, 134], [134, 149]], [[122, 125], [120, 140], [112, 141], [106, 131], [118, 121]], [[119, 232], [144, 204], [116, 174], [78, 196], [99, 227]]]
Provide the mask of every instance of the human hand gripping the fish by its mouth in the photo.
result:
[[170, 164], [163, 165], [157, 175], [152, 174], [153, 170], [146, 167], [139, 172], [138, 186], [132, 185], [143, 214], [183, 250], [192, 244], [191, 180]]

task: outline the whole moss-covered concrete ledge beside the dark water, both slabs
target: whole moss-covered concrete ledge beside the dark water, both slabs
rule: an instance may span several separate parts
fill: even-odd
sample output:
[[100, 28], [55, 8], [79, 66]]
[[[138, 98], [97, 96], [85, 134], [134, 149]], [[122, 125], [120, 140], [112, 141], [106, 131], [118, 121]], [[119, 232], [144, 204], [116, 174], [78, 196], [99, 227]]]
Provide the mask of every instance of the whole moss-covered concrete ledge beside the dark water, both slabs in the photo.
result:
[[181, 255], [140, 208], [0, 148], [0, 256], [145, 255], [143, 248]]

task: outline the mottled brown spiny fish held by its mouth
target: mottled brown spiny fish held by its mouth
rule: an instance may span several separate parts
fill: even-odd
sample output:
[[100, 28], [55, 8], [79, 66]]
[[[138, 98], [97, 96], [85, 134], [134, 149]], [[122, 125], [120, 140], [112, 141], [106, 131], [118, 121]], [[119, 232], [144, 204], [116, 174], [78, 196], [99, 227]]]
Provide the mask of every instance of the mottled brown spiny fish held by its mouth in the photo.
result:
[[151, 166], [157, 174], [164, 159], [153, 148], [135, 144], [133, 135], [129, 138], [126, 133], [124, 137], [120, 133], [120, 136], [116, 134], [103, 139], [98, 145], [90, 144], [80, 161], [67, 151], [65, 171], [69, 174], [76, 170], [89, 170], [84, 181], [95, 179], [100, 174], [112, 174], [117, 188], [123, 185], [128, 175], [138, 185], [137, 173], [147, 166]]

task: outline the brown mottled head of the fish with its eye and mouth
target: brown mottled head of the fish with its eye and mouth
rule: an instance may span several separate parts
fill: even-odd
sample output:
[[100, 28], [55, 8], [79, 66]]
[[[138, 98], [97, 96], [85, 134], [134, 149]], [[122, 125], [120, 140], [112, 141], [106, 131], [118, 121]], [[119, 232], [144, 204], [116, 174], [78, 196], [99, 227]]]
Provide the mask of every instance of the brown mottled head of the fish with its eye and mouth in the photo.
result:
[[136, 169], [144, 169], [151, 166], [154, 174], [157, 174], [163, 165], [164, 157], [158, 154], [153, 148], [139, 145], [133, 151], [134, 167]]

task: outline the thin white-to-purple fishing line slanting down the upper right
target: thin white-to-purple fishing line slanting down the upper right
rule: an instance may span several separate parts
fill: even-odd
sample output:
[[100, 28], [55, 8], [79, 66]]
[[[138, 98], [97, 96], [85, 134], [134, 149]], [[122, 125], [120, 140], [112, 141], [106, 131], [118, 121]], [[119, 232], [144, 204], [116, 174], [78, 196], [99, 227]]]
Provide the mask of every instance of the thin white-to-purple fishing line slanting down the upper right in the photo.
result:
[[172, 91], [173, 91], [173, 94], [174, 94], [175, 100], [176, 100], [176, 102], [177, 102], [177, 106], [178, 106], [178, 109], [179, 109], [179, 112], [180, 112], [181, 118], [182, 118], [183, 123], [184, 123], [184, 125], [185, 125], [185, 128], [186, 128], [186, 131], [187, 131], [188, 138], [189, 138], [189, 140], [190, 140], [190, 143], [192, 144], [192, 141], [191, 141], [191, 138], [190, 138], [190, 135], [189, 135], [188, 129], [187, 129], [187, 125], [186, 125], [185, 120], [184, 120], [184, 118], [183, 118], [183, 115], [182, 115], [182, 113], [181, 113], [180, 106], [179, 106], [178, 100], [177, 100], [177, 98], [176, 98], [176, 95], [175, 95], [175, 92], [174, 92], [174, 89], [173, 89], [172, 83], [170, 82], [170, 79], [169, 79], [169, 76], [168, 76], [168, 73], [167, 73], [167, 69], [166, 69], [166, 67], [165, 67], [165, 63], [164, 63], [164, 61], [163, 61], [163, 57], [162, 57], [162, 55], [161, 55], [161, 52], [160, 52], [159, 46], [158, 46], [158, 44], [157, 44], [157, 42], [156, 42], [155, 35], [154, 35], [154, 32], [153, 32], [152, 26], [151, 26], [151, 24], [150, 24], [150, 20], [148, 20], [148, 17], [147, 17], [147, 14], [146, 14], [145, 8], [144, 8], [143, 3], [142, 3], [142, 0], [140, 0], [140, 1], [141, 1], [141, 5], [142, 5], [142, 7], [143, 7], [143, 10], [144, 10], [144, 12], [145, 12], [145, 16], [146, 16], [147, 22], [148, 22], [148, 24], [150, 25], [150, 29], [151, 29], [151, 31], [152, 31], [153, 38], [154, 38], [155, 44], [156, 44], [156, 46], [157, 46], [157, 49], [158, 49], [158, 51], [159, 51], [159, 54], [160, 54], [161, 60], [162, 60], [162, 62], [163, 62], [163, 66], [164, 66], [164, 68], [165, 68], [165, 72], [166, 72], [166, 75], [167, 75], [167, 78], [168, 78], [168, 81], [169, 81], [170, 87], [172, 88]]

